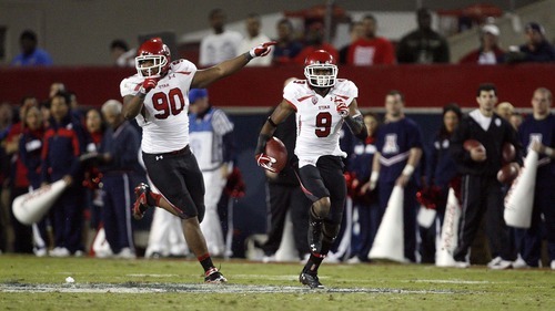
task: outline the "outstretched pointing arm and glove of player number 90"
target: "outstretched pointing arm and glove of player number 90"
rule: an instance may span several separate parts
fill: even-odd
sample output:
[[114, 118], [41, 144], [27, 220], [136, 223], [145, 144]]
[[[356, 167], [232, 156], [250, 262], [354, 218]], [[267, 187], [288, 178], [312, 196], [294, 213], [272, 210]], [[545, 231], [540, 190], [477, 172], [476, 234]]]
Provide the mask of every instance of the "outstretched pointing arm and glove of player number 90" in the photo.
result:
[[275, 43], [278, 42], [270, 41], [262, 43], [258, 46], [252, 48], [249, 52], [245, 52], [244, 54], [241, 54], [234, 59], [226, 60], [214, 66], [196, 71], [193, 81], [191, 82], [191, 89], [204, 89], [213, 82], [238, 72], [239, 70], [244, 68], [252, 59], [268, 55], [272, 50], [272, 45], [275, 45]]

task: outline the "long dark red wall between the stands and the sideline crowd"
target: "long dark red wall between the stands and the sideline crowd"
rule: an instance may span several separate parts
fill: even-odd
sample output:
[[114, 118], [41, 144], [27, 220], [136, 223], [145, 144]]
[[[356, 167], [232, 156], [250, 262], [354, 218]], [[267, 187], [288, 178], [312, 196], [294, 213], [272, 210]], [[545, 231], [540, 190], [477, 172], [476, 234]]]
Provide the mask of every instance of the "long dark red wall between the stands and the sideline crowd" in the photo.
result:
[[[99, 106], [109, 99], [120, 99], [119, 85], [133, 69], [119, 68], [32, 68], [0, 69], [0, 101], [18, 103], [28, 94], [44, 100], [52, 82], [63, 82], [78, 94], [82, 105]], [[410, 107], [441, 107], [456, 102], [474, 107], [480, 83], [498, 87], [500, 101], [516, 107], [529, 107], [532, 92], [545, 86], [555, 92], [555, 64], [518, 65], [390, 65], [340, 68], [340, 77], [359, 86], [361, 107], [383, 106], [389, 90], [402, 91]], [[211, 101], [222, 107], [269, 107], [281, 101], [283, 82], [303, 77], [300, 66], [246, 68], [212, 84]]]

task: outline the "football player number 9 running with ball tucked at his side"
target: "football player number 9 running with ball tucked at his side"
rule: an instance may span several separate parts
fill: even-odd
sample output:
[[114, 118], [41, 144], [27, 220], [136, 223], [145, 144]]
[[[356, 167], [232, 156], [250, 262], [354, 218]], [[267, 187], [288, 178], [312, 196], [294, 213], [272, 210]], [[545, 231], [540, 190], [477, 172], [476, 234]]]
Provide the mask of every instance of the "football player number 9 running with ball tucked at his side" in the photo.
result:
[[343, 177], [340, 129], [344, 122], [351, 132], [365, 139], [367, 135], [356, 97], [359, 89], [345, 79], [337, 79], [335, 59], [323, 50], [312, 52], [304, 62], [306, 80], [285, 85], [283, 101], [264, 123], [256, 149], [256, 162], [274, 172], [274, 158], [264, 154], [265, 144], [290, 114], [296, 113], [296, 146], [301, 187], [312, 200], [309, 221], [311, 256], [299, 277], [312, 289], [324, 288], [317, 269], [340, 230], [345, 205], [346, 185]]

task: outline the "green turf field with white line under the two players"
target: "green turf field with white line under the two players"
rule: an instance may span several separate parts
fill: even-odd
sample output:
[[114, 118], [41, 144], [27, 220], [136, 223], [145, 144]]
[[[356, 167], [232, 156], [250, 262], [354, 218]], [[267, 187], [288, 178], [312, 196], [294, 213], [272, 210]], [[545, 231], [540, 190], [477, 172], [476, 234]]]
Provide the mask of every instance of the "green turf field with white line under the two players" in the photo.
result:
[[216, 265], [229, 284], [203, 284], [192, 260], [3, 255], [0, 310], [555, 310], [549, 269], [324, 263], [326, 289], [310, 290], [300, 263]]

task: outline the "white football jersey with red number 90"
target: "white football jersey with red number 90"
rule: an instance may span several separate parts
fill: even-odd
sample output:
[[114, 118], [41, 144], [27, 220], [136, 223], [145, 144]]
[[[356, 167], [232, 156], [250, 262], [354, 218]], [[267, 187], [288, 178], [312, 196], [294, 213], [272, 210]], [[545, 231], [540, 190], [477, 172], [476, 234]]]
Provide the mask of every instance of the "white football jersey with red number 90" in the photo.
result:
[[[189, 145], [189, 89], [196, 66], [186, 60], [171, 63], [168, 74], [144, 99], [144, 110], [135, 117], [142, 127], [142, 151], [160, 154]], [[120, 84], [121, 96], [134, 95], [144, 77], [139, 74]]]

